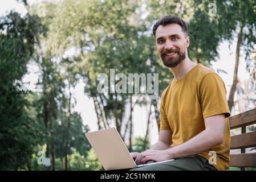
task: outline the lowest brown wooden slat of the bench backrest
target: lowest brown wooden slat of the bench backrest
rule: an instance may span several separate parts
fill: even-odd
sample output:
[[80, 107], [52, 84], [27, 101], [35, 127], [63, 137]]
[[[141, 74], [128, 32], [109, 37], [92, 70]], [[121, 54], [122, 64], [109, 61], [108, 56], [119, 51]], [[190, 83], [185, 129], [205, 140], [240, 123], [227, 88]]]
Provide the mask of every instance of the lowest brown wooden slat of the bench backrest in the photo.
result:
[[229, 166], [256, 167], [256, 153], [230, 155]]

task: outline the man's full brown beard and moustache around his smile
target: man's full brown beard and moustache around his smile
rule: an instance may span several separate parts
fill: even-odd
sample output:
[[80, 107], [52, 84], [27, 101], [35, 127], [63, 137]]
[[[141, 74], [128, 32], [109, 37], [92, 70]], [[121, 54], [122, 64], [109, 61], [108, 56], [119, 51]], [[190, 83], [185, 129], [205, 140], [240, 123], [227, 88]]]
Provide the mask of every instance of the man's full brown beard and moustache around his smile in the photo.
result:
[[[176, 53], [178, 57], [169, 57], [166, 55], [166, 53]], [[186, 58], [185, 56], [185, 51], [181, 52], [180, 49], [171, 49], [171, 50], [164, 50], [161, 53], [161, 59], [162, 62], [164, 63], [165, 67], [168, 68], [174, 68], [177, 67], [178, 64], [180, 64], [184, 59]]]

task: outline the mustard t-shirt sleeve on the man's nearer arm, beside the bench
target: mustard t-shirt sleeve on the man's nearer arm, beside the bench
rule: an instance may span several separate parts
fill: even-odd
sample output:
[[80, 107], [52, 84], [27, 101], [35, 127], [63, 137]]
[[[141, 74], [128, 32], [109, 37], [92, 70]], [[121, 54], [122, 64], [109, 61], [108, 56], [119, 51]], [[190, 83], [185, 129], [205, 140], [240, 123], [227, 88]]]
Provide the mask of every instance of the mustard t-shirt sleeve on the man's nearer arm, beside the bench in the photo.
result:
[[230, 116], [224, 81], [216, 73], [208, 73], [200, 84], [200, 101], [204, 119], [217, 114]]

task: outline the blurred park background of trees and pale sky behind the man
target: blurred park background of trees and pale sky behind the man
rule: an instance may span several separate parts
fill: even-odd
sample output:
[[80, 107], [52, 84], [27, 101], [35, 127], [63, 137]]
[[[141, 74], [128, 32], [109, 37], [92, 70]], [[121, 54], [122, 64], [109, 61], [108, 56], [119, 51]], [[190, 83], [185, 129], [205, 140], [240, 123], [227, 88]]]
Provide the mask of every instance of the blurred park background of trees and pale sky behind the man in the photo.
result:
[[[152, 26], [166, 14], [188, 23], [189, 57], [223, 78], [231, 115], [256, 105], [254, 0], [0, 2], [1, 170], [101, 170], [84, 134], [108, 127], [129, 151], [156, 142], [173, 75]], [[97, 76], [110, 69], [158, 73], [159, 97], [98, 93]]]

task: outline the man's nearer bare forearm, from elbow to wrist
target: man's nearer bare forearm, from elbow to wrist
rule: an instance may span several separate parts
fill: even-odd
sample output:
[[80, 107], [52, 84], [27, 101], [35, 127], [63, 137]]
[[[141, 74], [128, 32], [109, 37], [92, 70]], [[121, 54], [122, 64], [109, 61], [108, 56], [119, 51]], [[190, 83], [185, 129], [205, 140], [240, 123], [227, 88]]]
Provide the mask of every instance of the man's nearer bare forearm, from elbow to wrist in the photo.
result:
[[181, 158], [183, 156], [200, 154], [220, 143], [222, 143], [222, 139], [218, 135], [210, 130], [204, 130], [187, 142], [169, 148], [166, 151], [168, 151], [173, 159]]

